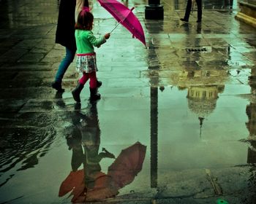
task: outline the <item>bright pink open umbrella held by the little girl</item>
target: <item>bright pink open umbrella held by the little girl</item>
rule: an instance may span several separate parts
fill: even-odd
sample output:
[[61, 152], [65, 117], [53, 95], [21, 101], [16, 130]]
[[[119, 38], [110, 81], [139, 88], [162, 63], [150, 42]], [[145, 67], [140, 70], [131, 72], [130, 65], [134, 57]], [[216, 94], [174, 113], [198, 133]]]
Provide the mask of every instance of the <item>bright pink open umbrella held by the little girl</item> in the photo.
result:
[[[121, 4], [119, 1], [116, 0], [98, 1], [102, 7], [104, 7], [108, 12], [110, 12], [111, 15], [113, 15], [114, 18], [116, 18], [118, 24], [121, 23], [121, 25], [123, 25], [124, 28], [127, 28], [127, 30], [132, 33], [132, 37], [137, 38], [146, 46], [143, 28], [138, 18], [132, 12], [134, 7], [132, 7], [132, 9], [129, 9], [126, 6], [124, 6], [124, 4]], [[118, 26], [118, 24], [116, 26]]]

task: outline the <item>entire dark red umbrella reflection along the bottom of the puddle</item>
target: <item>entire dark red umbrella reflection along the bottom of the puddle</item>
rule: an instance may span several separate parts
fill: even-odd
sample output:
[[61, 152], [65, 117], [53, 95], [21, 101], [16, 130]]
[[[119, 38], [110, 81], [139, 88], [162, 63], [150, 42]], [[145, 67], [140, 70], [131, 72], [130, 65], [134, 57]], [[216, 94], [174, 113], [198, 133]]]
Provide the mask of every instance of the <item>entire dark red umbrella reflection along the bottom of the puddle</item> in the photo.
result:
[[[90, 174], [90, 180], [94, 180], [93, 187], [86, 184], [88, 178], [82, 178], [83, 173], [71, 173], [62, 182], [59, 196], [67, 194], [72, 190], [71, 195], [73, 203], [83, 203], [86, 201], [104, 200], [108, 197], [118, 195], [118, 189], [130, 184], [135, 176], [142, 169], [146, 155], [146, 146], [136, 142], [127, 149], [123, 149], [116, 160], [108, 168], [108, 174], [97, 171]], [[84, 169], [86, 173], [86, 166]]]

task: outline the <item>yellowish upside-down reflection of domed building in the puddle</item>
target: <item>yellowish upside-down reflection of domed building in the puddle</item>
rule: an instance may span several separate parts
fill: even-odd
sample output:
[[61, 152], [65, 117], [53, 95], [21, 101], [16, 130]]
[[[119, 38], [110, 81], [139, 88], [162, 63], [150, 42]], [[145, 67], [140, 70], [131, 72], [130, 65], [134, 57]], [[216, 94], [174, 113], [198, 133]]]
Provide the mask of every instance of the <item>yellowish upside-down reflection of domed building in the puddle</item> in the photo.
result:
[[187, 89], [189, 109], [198, 117], [207, 117], [217, 106], [219, 93], [225, 89], [224, 82], [228, 77], [223, 70], [181, 71], [171, 76], [171, 84], [179, 89]]

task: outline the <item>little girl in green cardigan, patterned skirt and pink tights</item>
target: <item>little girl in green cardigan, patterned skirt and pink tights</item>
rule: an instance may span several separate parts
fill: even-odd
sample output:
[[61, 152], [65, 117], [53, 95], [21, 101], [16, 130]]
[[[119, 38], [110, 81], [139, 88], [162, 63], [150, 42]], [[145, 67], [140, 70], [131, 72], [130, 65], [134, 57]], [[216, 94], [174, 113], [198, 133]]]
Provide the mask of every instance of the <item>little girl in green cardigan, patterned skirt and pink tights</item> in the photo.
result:
[[91, 29], [93, 26], [94, 16], [89, 12], [88, 7], [84, 7], [78, 15], [78, 22], [75, 24], [75, 42], [77, 46], [77, 69], [83, 73], [79, 79], [78, 86], [72, 90], [75, 101], [80, 102], [80, 92], [87, 80], [90, 79], [91, 100], [95, 101], [100, 98], [97, 93], [97, 87], [102, 85], [97, 81], [96, 71], [96, 53], [94, 47], [100, 47], [101, 44], [109, 39], [110, 34], [105, 34], [96, 38]]

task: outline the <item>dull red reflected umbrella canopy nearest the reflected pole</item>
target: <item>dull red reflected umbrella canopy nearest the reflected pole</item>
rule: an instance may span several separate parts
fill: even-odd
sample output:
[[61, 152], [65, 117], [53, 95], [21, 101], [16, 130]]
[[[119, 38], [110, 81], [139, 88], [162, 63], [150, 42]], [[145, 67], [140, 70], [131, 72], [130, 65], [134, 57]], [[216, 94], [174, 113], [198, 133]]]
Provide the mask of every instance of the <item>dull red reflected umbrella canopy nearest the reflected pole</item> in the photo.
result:
[[142, 169], [146, 155], [146, 146], [137, 142], [123, 149], [116, 160], [108, 168], [108, 176], [119, 188], [130, 184]]

